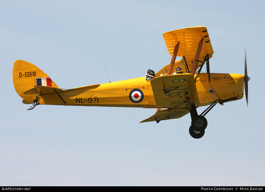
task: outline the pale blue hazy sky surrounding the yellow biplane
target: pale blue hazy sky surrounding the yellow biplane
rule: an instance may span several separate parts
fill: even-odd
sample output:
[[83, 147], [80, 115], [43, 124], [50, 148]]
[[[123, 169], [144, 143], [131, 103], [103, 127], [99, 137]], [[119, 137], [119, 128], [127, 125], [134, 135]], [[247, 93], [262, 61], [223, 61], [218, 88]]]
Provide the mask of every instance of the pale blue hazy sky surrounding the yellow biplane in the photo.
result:
[[[1, 1], [0, 185], [264, 186], [264, 1]], [[15, 60], [60, 87], [142, 77], [169, 64], [162, 34], [204, 26], [210, 71], [244, 74], [245, 98], [215, 106], [201, 139], [190, 115], [138, 123], [155, 109], [41, 105], [27, 111]], [[198, 108], [200, 114], [205, 107]]]

